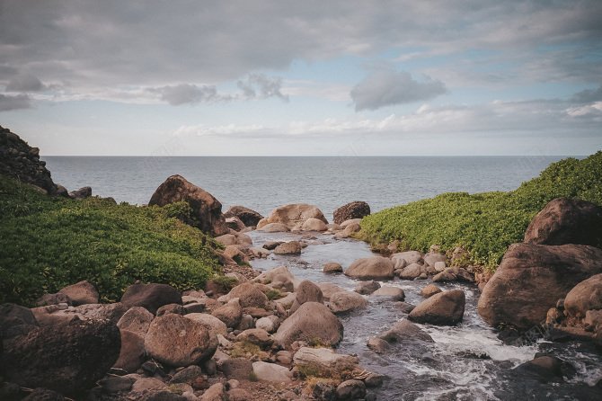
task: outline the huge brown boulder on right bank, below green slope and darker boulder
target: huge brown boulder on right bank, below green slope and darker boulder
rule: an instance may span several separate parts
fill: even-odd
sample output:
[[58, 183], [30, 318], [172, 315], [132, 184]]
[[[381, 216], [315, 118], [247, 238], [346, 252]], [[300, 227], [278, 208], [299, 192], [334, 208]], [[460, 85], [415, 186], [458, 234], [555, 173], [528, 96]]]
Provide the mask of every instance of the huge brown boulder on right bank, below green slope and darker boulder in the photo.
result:
[[479, 315], [490, 325], [528, 329], [580, 281], [602, 272], [602, 250], [588, 245], [510, 245], [482, 290]]

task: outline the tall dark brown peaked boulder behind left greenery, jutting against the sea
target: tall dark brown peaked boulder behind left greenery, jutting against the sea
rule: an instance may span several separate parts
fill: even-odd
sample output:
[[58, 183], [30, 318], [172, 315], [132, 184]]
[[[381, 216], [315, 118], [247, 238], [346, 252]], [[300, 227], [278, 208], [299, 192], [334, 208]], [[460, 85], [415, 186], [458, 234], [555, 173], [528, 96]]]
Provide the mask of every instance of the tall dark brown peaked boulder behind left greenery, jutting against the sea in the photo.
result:
[[192, 209], [193, 218], [186, 223], [199, 227], [201, 231], [212, 236], [223, 236], [228, 233], [219, 200], [202, 188], [189, 183], [181, 175], [168, 177], [155, 190], [148, 204], [165, 206], [179, 201], [187, 202]]

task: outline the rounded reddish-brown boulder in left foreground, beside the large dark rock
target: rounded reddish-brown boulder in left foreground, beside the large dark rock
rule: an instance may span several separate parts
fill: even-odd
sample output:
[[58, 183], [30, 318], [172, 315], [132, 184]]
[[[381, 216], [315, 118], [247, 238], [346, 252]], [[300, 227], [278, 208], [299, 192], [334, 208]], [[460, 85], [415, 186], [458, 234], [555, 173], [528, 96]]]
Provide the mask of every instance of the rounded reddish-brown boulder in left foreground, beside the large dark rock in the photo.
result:
[[157, 361], [189, 366], [211, 358], [217, 349], [217, 336], [207, 325], [170, 314], [155, 317], [146, 333], [145, 348]]

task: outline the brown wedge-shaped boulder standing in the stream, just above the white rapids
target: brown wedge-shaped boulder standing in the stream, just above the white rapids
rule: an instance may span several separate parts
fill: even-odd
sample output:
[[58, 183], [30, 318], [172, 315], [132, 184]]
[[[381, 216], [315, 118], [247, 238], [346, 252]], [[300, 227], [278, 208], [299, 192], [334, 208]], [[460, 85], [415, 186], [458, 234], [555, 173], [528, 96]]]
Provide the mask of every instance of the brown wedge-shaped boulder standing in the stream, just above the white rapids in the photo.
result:
[[415, 307], [408, 319], [431, 325], [456, 325], [464, 317], [465, 293], [448, 290], [433, 295]]

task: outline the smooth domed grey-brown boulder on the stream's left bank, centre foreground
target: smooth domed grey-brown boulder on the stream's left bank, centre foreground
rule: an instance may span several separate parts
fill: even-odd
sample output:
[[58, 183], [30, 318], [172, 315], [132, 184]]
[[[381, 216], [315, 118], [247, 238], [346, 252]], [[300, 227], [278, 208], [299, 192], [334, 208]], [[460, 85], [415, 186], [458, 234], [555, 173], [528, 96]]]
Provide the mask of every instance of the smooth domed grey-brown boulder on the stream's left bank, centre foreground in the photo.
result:
[[296, 341], [320, 341], [334, 346], [341, 342], [343, 326], [328, 307], [317, 302], [305, 302], [297, 312], [288, 317], [274, 337], [283, 347]]

